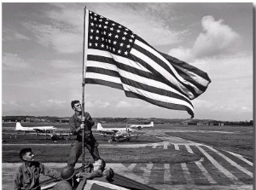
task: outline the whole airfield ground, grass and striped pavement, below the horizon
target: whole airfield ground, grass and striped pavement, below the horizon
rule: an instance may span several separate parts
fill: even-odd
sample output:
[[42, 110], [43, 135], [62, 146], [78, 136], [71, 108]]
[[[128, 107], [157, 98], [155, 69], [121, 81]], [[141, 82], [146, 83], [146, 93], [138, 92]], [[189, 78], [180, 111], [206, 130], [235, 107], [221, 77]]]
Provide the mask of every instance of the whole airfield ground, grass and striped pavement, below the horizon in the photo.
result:
[[[3, 189], [11, 187], [22, 147], [32, 147], [38, 160], [55, 169], [67, 162], [72, 139], [15, 138], [15, 124], [2, 129]], [[139, 133], [137, 140], [118, 143], [95, 135], [102, 158], [121, 175], [157, 189], [253, 189], [253, 127], [155, 125]], [[86, 151], [85, 159], [91, 161]]]

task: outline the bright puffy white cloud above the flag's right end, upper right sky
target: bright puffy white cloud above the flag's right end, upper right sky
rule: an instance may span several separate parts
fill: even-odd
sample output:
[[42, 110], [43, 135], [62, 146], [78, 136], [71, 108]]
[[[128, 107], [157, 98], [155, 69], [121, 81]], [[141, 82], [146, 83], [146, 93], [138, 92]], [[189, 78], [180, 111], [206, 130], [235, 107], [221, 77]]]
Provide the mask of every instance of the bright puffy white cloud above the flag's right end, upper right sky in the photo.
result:
[[191, 49], [179, 47], [171, 49], [169, 55], [182, 60], [195, 60], [216, 55], [230, 54], [236, 50], [241, 36], [224, 24], [224, 20], [214, 20], [211, 15], [201, 20], [204, 32], [195, 39]]

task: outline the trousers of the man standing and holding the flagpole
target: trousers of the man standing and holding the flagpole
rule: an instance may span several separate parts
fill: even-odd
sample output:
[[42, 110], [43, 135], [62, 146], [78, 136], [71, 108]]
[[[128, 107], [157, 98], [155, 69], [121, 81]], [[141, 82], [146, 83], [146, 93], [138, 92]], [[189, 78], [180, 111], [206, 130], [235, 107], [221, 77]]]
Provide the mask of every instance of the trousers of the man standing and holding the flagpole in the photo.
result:
[[[97, 141], [84, 142], [84, 147], [88, 149], [90, 155], [95, 161], [101, 158], [99, 155], [98, 146], [99, 144], [97, 143]], [[73, 141], [73, 143], [71, 144], [71, 151], [67, 161], [67, 165], [74, 167], [82, 153], [82, 141]]]

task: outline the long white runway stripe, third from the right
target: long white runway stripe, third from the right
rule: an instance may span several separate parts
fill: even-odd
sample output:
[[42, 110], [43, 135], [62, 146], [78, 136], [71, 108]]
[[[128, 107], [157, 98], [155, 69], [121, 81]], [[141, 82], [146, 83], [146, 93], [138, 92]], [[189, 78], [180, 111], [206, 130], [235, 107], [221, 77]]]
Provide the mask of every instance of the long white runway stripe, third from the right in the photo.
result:
[[234, 182], [236, 185], [244, 185], [244, 183], [239, 181], [239, 179], [236, 176], [234, 176], [229, 170], [226, 170], [221, 164], [218, 164], [218, 162], [214, 158], [212, 158], [212, 156], [210, 156], [204, 149], [202, 149], [199, 146], [196, 147], [210, 160], [210, 162], [212, 162], [212, 164], [218, 170], [224, 173], [225, 176], [229, 177], [230, 181]]

